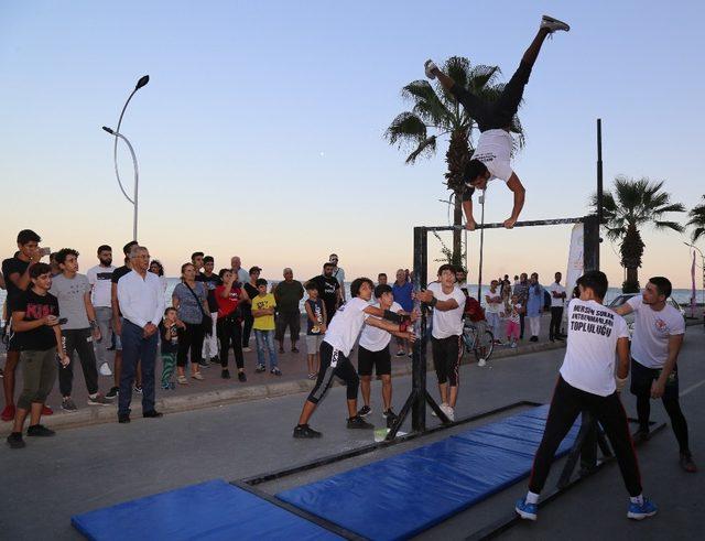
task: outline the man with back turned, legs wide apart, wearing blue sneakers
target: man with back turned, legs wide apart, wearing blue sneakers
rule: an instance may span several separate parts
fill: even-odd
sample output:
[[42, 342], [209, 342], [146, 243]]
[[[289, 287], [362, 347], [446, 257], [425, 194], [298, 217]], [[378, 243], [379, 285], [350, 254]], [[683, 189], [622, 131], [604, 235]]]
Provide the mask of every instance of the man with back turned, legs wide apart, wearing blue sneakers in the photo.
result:
[[[533, 461], [529, 493], [514, 510], [523, 519], [536, 520], [539, 494], [555, 452], [577, 415], [587, 410], [605, 430], [617, 456], [630, 499], [627, 517], [641, 520], [655, 515], [657, 507], [643, 497], [627, 414], [619, 400], [629, 375], [629, 329], [623, 317], [603, 306], [608, 285], [604, 272], [586, 272], [577, 283], [581, 297], [568, 310], [567, 348]], [[615, 351], [619, 356], [616, 375]]]

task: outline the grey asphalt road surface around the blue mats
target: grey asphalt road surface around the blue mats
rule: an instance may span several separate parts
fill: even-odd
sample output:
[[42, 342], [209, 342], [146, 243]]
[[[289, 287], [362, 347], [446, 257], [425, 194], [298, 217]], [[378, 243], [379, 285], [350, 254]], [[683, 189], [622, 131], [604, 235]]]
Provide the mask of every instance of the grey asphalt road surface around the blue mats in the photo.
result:
[[[683, 409], [691, 428], [695, 458], [705, 467], [705, 335], [688, 328], [681, 356]], [[486, 368], [465, 366], [457, 415], [469, 415], [517, 400], [545, 402], [555, 383], [563, 350], [499, 359]], [[430, 375], [430, 381], [433, 381]], [[394, 403], [401, 405], [409, 378], [394, 380]], [[381, 425], [378, 383], [372, 390], [372, 421]], [[371, 442], [372, 434], [345, 429], [345, 389], [332, 389], [313, 418], [324, 432], [319, 441], [291, 437], [305, 394], [135, 419], [131, 424], [102, 424], [63, 430], [54, 439], [28, 439], [22, 451], [0, 448], [0, 538], [80, 539], [70, 516], [213, 478], [227, 480], [279, 469]], [[629, 413], [634, 400], [625, 396]], [[653, 420], [665, 420], [655, 404]], [[507, 413], [509, 414], [509, 413]], [[430, 418], [432, 419], [432, 418]], [[433, 422], [433, 421], [432, 421]], [[478, 424], [488, 422], [482, 420]], [[464, 428], [466, 430], [467, 425]], [[264, 486], [321, 478], [354, 465], [444, 437], [416, 439], [335, 466]], [[688, 475], [677, 467], [677, 446], [670, 428], [639, 450], [646, 494], [660, 513], [642, 523], [626, 519], [627, 495], [616, 465], [608, 465], [540, 512], [536, 523], [522, 523], [507, 539], [697, 539], [705, 535], [702, 495], [704, 473]], [[424, 539], [464, 539], [511, 512], [523, 483], [421, 534]], [[188, 509], [184, 509], [188, 512]], [[403, 518], [400, 518], [403, 520]]]

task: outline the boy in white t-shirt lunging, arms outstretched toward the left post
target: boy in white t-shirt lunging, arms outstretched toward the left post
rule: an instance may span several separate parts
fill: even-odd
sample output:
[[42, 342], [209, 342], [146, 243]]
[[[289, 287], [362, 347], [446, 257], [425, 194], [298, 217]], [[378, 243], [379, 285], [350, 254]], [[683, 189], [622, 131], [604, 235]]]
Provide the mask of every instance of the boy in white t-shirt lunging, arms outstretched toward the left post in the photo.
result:
[[[321, 344], [321, 367], [316, 385], [304, 402], [299, 424], [294, 428], [294, 437], [321, 437], [321, 432], [308, 426], [308, 420], [316, 411], [318, 402], [330, 387], [334, 377], [340, 378], [347, 386], [348, 429], [373, 429], [357, 414], [357, 390], [359, 378], [348, 356], [355, 346], [362, 325], [399, 332], [398, 336], [413, 340], [414, 335], [406, 331], [411, 318], [400, 316], [391, 311], [384, 311], [369, 304], [375, 284], [369, 278], [357, 278], [350, 284], [351, 299], [343, 304], [334, 318], [330, 320], [326, 335]], [[377, 320], [370, 315], [382, 317]]]

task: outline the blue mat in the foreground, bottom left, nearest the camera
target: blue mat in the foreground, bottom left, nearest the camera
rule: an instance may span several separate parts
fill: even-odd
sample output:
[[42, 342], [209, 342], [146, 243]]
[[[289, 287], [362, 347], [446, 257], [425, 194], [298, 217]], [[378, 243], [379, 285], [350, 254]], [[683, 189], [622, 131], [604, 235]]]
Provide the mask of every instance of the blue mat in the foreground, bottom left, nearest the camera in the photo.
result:
[[338, 540], [258, 496], [210, 480], [72, 517], [90, 540]]

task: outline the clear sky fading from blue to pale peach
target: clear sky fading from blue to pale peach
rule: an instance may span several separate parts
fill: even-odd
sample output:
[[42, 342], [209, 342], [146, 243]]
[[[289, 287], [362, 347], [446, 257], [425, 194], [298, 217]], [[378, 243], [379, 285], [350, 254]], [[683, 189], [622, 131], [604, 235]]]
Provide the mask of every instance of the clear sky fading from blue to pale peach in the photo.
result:
[[[284, 267], [314, 275], [330, 252], [348, 278], [410, 268], [413, 227], [448, 224], [447, 145], [406, 165], [383, 139], [408, 109], [401, 88], [424, 77], [426, 58], [453, 55], [498, 65], [507, 80], [543, 13], [572, 30], [545, 43], [524, 93], [527, 145], [513, 163], [528, 191], [522, 219], [587, 214], [597, 118], [606, 187], [618, 174], [663, 180], [691, 208], [705, 193], [705, 8], [677, 6], [664, 15], [655, 1], [6, 0], [0, 256], [31, 228], [54, 250], [78, 249], [85, 270], [99, 245], [117, 256], [131, 239], [132, 205], [100, 127], [117, 125], [149, 74], [121, 131], [140, 165], [138, 237], [169, 275], [197, 250], [216, 268], [238, 255], [273, 279]], [[131, 191], [122, 147], [119, 164]], [[494, 183], [486, 219], [510, 212], [511, 194]], [[565, 270], [570, 227], [488, 231], [484, 275], [538, 271], [550, 282]], [[642, 283], [665, 274], [688, 286], [685, 237], [643, 238]], [[478, 235], [468, 239], [473, 282]], [[435, 240], [430, 249], [440, 257]], [[617, 248], [605, 241], [601, 257], [618, 285]]]

